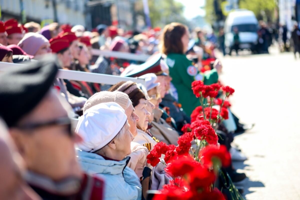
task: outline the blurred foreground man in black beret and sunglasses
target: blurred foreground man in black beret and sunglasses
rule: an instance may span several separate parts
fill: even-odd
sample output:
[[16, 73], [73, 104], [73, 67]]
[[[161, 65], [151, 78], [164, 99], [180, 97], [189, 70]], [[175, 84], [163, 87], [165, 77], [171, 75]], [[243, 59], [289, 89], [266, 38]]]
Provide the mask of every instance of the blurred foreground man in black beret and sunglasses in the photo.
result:
[[47, 58], [0, 75], [0, 116], [43, 199], [102, 199], [103, 181], [82, 173], [71, 131], [70, 106], [51, 89], [58, 67]]

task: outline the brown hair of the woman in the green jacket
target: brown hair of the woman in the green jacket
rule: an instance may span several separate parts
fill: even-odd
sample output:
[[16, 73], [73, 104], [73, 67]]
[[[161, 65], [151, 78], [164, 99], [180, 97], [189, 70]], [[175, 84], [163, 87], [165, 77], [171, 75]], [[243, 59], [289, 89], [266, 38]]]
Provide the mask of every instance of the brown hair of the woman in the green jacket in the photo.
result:
[[184, 53], [181, 38], [186, 31], [187, 26], [178, 22], [166, 25], [161, 39], [162, 52], [166, 55], [169, 53]]

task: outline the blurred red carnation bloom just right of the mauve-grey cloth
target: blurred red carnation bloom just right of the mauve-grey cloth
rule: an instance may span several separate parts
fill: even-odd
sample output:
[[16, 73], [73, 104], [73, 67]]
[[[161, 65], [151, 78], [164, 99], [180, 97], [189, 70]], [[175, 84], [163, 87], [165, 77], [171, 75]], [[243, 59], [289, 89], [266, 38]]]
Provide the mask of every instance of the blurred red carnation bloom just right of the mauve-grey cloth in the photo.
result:
[[177, 160], [173, 160], [165, 168], [166, 172], [170, 173], [173, 177], [183, 176], [192, 172], [194, 169], [201, 167], [201, 164], [193, 160], [190, 156], [182, 156]]

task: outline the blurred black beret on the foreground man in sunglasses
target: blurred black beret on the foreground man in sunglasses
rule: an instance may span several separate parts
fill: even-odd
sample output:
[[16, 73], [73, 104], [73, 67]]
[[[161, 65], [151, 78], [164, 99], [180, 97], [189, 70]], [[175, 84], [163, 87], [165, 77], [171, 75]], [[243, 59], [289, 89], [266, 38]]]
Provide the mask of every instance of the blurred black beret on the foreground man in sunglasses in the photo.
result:
[[52, 87], [58, 72], [55, 60], [48, 56], [0, 73], [0, 116], [8, 127], [32, 111]]

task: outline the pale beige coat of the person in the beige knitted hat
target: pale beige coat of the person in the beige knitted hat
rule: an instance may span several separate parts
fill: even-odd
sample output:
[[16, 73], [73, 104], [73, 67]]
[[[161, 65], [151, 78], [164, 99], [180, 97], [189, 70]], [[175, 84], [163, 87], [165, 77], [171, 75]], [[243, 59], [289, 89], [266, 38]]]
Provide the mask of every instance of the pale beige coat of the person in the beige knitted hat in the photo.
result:
[[[131, 142], [131, 154], [129, 155], [130, 160], [128, 167], [134, 170], [139, 178], [143, 176], [143, 169], [145, 166], [151, 168], [150, 164], [147, 163], [147, 156], [149, 151], [146, 147], [136, 142]], [[152, 169], [152, 168], [151, 168]]]

